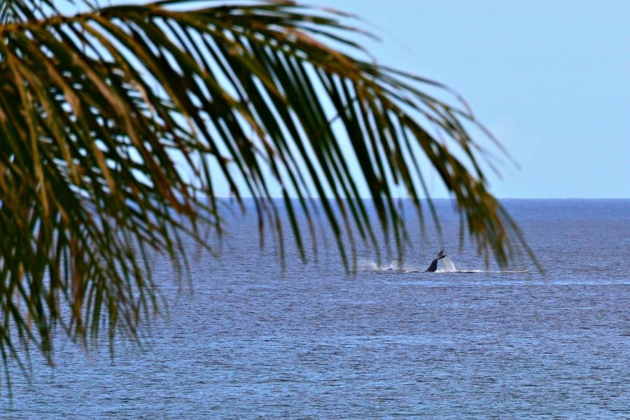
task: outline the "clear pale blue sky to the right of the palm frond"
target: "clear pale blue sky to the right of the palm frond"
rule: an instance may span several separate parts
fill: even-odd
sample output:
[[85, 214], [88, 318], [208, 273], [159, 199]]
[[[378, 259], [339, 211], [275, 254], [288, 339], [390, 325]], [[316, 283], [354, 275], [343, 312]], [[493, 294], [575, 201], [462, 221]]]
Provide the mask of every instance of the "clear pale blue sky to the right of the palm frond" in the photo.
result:
[[378, 62], [461, 94], [518, 163], [490, 176], [496, 197], [630, 198], [630, 1], [306, 3], [357, 15]]

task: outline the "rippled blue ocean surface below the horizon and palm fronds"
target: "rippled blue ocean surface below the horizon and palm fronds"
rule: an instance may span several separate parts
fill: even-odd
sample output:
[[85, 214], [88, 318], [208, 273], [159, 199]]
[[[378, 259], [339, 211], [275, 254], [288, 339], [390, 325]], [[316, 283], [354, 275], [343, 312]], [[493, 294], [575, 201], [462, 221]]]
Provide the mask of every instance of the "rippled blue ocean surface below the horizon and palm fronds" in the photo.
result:
[[[145, 349], [59, 337], [56, 367], [12, 370], [0, 419], [629, 419], [630, 200], [504, 204], [545, 273], [460, 248], [447, 200], [442, 237], [409, 218], [400, 269], [363, 246], [356, 274], [326, 235], [282, 267], [253, 212], [228, 216], [190, 284], [155, 259], [169, 313]], [[422, 272], [441, 248], [455, 267]]]

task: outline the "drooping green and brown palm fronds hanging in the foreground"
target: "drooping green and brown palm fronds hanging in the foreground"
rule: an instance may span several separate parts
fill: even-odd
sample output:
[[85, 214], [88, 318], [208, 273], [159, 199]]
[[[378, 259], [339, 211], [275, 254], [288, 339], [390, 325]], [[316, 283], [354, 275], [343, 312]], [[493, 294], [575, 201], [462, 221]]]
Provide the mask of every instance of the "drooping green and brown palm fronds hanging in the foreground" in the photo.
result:
[[346, 199], [367, 189], [401, 249], [393, 188], [420, 212], [435, 169], [479, 249], [505, 264], [514, 240], [526, 248], [486, 191], [465, 105], [426, 94], [445, 89], [430, 80], [341, 52], [360, 52], [344, 15], [290, 2], [75, 15], [49, 1], [0, 5], [5, 363], [32, 343], [52, 362], [55, 328], [86, 343], [103, 324], [110, 338], [137, 337], [158, 307], [149, 248], [179, 267], [183, 236], [207, 246], [200, 227], [221, 235], [220, 185], [238, 202], [255, 197], [260, 234], [270, 224], [282, 244], [268, 198], [280, 191], [304, 260], [296, 211], [312, 223], [308, 198], [332, 197], [321, 208], [349, 267], [342, 236], [378, 244], [363, 202]]

